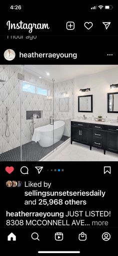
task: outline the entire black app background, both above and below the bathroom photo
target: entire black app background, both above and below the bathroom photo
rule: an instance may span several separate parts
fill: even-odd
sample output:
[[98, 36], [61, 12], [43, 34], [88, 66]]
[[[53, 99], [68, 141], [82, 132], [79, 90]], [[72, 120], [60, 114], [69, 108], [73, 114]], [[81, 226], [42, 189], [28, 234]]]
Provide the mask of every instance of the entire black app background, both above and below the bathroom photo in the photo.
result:
[[[22, 5], [21, 11], [10, 10], [11, 5]], [[114, 3], [105, 3], [105, 5], [113, 5], [113, 10], [90, 10], [94, 5], [101, 3], [78, 3], [78, 2], [62, 2], [54, 3], [33, 2], [33, 3], [0, 3], [0, 63], [4, 65], [14, 64], [117, 64], [117, 5]], [[102, 2], [103, 5], [103, 2]], [[50, 31], [33, 31], [32, 35], [37, 35], [36, 40], [7, 40], [7, 35], [29, 35], [26, 31], [8, 32], [6, 22], [10, 20], [12, 23], [22, 20], [24, 23], [46, 23], [48, 22], [52, 28]], [[65, 24], [67, 21], [75, 22], [74, 31], [66, 31]], [[86, 21], [93, 22], [93, 28], [87, 31], [83, 24]], [[108, 30], [105, 30], [102, 22], [111, 22]], [[15, 59], [8, 63], [3, 53], [6, 49], [15, 51]], [[19, 51], [22, 53], [77, 53], [76, 60], [72, 59], [19, 59]], [[113, 56], [107, 56], [113, 54]], [[13, 165], [15, 171], [12, 174], [5, 173], [5, 166]], [[2, 162], [0, 163], [0, 250], [3, 255], [39, 255], [38, 250], [80, 250], [80, 255], [115, 255], [117, 252], [117, 167], [116, 163], [103, 162], [43, 162], [24, 163], [29, 167], [29, 175], [21, 175], [21, 162]], [[38, 176], [34, 166], [43, 165], [44, 171]], [[111, 165], [112, 174], [103, 174], [103, 166]], [[50, 169], [63, 168], [64, 172], [54, 172]], [[49, 171], [47, 171], [49, 169]], [[53, 189], [56, 190], [75, 190], [75, 189], [103, 189], [107, 191], [107, 197], [90, 198], [85, 209], [109, 209], [112, 215], [109, 219], [108, 227], [54, 227], [54, 228], [21, 228], [5, 226], [5, 210], [18, 211], [23, 210], [22, 204], [23, 186], [22, 188], [7, 188], [5, 182], [9, 179], [21, 180], [50, 180], [53, 182]], [[54, 187], [55, 186], [55, 187]], [[21, 209], [22, 208], [22, 209]], [[45, 208], [45, 207], [44, 207]], [[37, 211], [44, 211], [44, 208]], [[79, 206], [66, 206], [67, 210], [79, 209]], [[81, 207], [80, 207], [81, 208]], [[25, 206], [25, 211], [30, 207]], [[52, 209], [52, 208], [51, 208]], [[57, 207], [54, 207], [55, 210]], [[106, 209], [106, 210], [107, 210]], [[62, 210], [62, 209], [61, 209]], [[31, 208], [33, 211], [33, 208]], [[35, 210], [36, 211], [36, 210]], [[102, 218], [100, 218], [101, 220]], [[107, 220], [107, 218], [105, 218]], [[7, 242], [7, 235], [10, 232], [16, 234], [16, 241]], [[31, 232], [38, 232], [39, 239], [32, 240]], [[86, 232], [87, 240], [78, 241], [78, 233]], [[109, 232], [111, 239], [107, 242], [101, 239], [103, 232]], [[55, 232], [63, 232], [63, 241], [54, 240]]]

